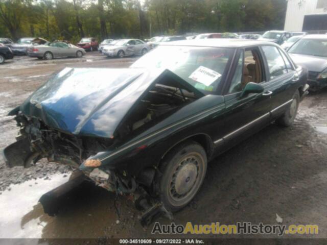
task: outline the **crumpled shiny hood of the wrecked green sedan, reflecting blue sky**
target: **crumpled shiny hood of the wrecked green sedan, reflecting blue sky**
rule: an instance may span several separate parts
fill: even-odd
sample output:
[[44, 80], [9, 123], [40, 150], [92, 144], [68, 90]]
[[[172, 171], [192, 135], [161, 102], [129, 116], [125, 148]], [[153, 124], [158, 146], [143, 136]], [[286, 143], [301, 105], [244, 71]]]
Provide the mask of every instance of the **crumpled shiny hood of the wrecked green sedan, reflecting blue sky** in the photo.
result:
[[124, 68], [65, 68], [21, 106], [27, 116], [83, 136], [111, 137], [158, 72]]

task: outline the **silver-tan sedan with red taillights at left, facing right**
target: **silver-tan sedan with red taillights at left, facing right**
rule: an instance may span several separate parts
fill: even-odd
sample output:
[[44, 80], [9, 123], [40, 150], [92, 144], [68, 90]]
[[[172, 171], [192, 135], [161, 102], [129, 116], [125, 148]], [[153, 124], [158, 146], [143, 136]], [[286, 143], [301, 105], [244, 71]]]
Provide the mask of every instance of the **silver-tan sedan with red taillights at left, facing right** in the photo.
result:
[[48, 45], [31, 46], [27, 50], [28, 56], [38, 59], [52, 60], [57, 57], [82, 57], [86, 54], [84, 48], [65, 42], [52, 42]]

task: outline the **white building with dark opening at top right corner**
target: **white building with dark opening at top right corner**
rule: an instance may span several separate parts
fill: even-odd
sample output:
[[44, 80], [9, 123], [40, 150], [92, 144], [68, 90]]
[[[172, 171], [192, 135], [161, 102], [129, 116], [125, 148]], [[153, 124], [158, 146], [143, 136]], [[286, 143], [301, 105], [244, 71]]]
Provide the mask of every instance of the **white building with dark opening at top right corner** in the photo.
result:
[[287, 0], [284, 30], [327, 30], [327, 0]]

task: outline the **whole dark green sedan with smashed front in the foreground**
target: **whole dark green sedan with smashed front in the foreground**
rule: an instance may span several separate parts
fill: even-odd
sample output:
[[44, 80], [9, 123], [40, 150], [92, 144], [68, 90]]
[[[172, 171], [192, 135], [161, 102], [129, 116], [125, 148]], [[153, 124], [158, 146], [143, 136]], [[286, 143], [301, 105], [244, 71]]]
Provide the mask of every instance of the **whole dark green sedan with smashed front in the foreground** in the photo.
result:
[[9, 112], [21, 135], [4, 156], [136, 193], [147, 223], [188, 205], [215, 156], [271, 121], [291, 126], [307, 75], [278, 45], [239, 39], [162, 43], [130, 68], [65, 68]]

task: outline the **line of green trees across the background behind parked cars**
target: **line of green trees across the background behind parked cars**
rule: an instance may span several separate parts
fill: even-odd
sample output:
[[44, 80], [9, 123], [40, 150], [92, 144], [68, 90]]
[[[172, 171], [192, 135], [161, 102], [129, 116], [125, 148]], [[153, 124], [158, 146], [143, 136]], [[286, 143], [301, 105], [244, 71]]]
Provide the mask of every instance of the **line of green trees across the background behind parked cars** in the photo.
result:
[[286, 0], [0, 0], [0, 37], [148, 38], [283, 29]]

